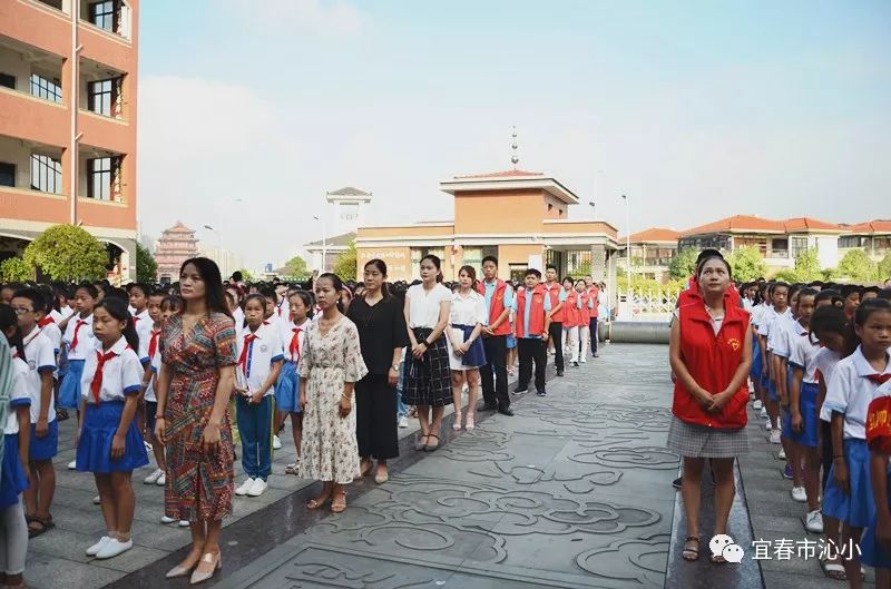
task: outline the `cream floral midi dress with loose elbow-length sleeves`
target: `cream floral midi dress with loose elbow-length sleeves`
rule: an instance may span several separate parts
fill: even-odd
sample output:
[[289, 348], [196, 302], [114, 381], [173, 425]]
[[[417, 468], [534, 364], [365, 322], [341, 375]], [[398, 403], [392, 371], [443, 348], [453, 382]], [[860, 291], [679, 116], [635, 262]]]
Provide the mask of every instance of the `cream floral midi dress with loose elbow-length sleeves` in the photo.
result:
[[352, 321], [341, 317], [324, 335], [317, 322], [310, 325], [300, 359], [301, 379], [307, 379], [301, 478], [347, 484], [359, 477], [355, 406], [345, 418], [339, 411], [343, 383], [368, 372]]

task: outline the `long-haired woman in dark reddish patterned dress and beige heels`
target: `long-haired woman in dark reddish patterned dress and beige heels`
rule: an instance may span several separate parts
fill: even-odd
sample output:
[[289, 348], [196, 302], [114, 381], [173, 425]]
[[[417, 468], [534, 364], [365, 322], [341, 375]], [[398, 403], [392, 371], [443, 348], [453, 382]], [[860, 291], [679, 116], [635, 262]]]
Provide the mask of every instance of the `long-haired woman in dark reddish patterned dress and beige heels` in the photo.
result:
[[192, 572], [194, 585], [219, 569], [222, 520], [232, 513], [234, 450], [226, 410], [235, 385], [235, 323], [213, 261], [187, 259], [179, 283], [183, 311], [161, 333], [155, 434], [166, 449], [165, 512], [192, 529], [192, 550], [167, 578]]

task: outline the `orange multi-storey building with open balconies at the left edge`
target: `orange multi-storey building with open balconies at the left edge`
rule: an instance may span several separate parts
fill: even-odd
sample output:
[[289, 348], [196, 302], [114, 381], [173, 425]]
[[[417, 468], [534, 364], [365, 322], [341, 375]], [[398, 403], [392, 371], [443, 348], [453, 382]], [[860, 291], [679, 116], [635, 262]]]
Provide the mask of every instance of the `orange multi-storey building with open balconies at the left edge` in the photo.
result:
[[139, 0], [0, 1], [0, 261], [56, 224], [136, 278]]

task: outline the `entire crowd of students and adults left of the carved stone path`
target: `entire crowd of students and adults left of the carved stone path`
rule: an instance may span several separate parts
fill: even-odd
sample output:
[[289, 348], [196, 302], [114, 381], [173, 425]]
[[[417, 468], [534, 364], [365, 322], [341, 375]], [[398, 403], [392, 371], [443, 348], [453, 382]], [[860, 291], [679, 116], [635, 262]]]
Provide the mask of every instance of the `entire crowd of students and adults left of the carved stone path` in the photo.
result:
[[[540, 271], [529, 269], [517, 285], [498, 277], [497, 258], [487, 257], [481, 267], [481, 279], [476, 268], [463, 266], [458, 281], [444, 284], [441, 262], [430, 255], [412, 284], [388, 283], [385, 263], [373, 259], [360, 283], [322, 274], [310, 284], [248, 285], [238, 273], [223, 283], [213, 262], [195, 258], [183, 265], [182, 284], [0, 286], [6, 336], [0, 343], [9, 344], [0, 355], [11, 360], [0, 375], [9, 379], [11, 391], [0, 484], [0, 585], [23, 585], [29, 537], [55, 527], [60, 421], [78, 421], [76, 459], [68, 468], [94, 474], [94, 502], [108, 530], [86, 553], [108, 559], [133, 547], [131, 475], [149, 465], [151, 455], [154, 468], [144, 483], [165, 488], [159, 522], [189, 527], [194, 540], [189, 557], [168, 577], [192, 572], [193, 582], [200, 582], [219, 566], [219, 532], [210, 521], [196, 523], [231, 512], [232, 494], [266, 491], [288, 418], [297, 460], [284, 474], [322, 481], [321, 493], [306, 507], [330, 502], [337, 513], [346, 509], [346, 485], [354, 479], [373, 471], [375, 482], [388, 480], [388, 460], [399, 455], [398, 429], [408, 426], [410, 414], [420, 425], [415, 450], [432, 452], [447, 405], [454, 406], [454, 430], [472, 431], [478, 411], [513, 414], [508, 375], [517, 360], [511, 355], [519, 360], [512, 394], [535, 384], [541, 396], [548, 353], [556, 356], [560, 376], [565, 356], [574, 366], [587, 361], [589, 342], [597, 357], [598, 316], [608, 314], [603, 284], [590, 276], [560, 283], [549, 266], [545, 281]], [[207, 284], [198, 288], [202, 281]], [[206, 318], [189, 330], [190, 308]], [[193, 344], [209, 350], [219, 369], [213, 382], [199, 374], [207, 360]], [[6, 365], [0, 362], [0, 369]], [[233, 369], [231, 382], [226, 366]], [[194, 435], [207, 450], [208, 420], [219, 430], [208, 459], [218, 463], [207, 467], [208, 477], [219, 478], [224, 488], [231, 480], [232, 487], [214, 489], [210, 516], [188, 503], [183, 471], [195, 464], [184, 459], [188, 448], [176, 445], [183, 424], [172, 422], [186, 414], [174, 418], [172, 411], [179, 410], [172, 406], [198, 402], [183, 392], [189, 367], [198, 371], [195, 387], [207, 389], [200, 397], [207, 403], [205, 429]], [[213, 420], [217, 385], [228, 390], [227, 409], [225, 419]], [[237, 483], [232, 477], [236, 450], [244, 470]]]

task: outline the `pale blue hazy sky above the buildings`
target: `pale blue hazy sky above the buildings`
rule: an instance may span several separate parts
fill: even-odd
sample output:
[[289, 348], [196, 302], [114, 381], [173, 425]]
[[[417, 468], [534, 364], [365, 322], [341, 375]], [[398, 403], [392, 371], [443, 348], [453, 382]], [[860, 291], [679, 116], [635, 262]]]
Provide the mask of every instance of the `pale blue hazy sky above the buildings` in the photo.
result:
[[[248, 267], [366, 222], [452, 218], [518, 167], [626, 233], [746, 214], [891, 218], [885, 0], [144, 0], [139, 219]], [[587, 203], [593, 200], [595, 208]], [[214, 234], [202, 229], [213, 226]]]

